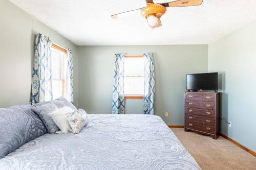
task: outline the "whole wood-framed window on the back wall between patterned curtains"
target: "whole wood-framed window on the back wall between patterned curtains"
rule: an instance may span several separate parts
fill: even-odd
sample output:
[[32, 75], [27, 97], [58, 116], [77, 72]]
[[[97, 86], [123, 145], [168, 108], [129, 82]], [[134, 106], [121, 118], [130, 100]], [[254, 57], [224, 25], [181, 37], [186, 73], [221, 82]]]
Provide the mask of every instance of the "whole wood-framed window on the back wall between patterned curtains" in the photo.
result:
[[124, 57], [124, 96], [125, 99], [143, 99], [144, 60], [143, 55]]

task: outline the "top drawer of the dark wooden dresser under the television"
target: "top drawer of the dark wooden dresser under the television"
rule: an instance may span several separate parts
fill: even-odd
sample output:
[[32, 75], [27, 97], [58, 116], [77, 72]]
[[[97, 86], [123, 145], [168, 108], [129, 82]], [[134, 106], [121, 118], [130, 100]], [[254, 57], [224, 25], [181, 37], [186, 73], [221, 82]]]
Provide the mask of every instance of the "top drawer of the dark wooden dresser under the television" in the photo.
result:
[[216, 95], [212, 93], [186, 92], [185, 100], [215, 102]]

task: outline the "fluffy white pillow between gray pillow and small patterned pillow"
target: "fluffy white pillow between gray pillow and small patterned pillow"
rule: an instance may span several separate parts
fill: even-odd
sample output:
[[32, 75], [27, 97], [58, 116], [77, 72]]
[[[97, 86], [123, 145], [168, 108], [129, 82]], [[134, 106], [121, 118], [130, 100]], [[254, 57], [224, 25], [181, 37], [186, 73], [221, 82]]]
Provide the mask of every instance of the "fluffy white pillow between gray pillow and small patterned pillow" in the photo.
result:
[[66, 116], [67, 113], [72, 112], [74, 112], [74, 109], [68, 106], [64, 106], [49, 113], [52, 116], [53, 122], [59, 127], [62, 133], [68, 133], [69, 131], [72, 132]]

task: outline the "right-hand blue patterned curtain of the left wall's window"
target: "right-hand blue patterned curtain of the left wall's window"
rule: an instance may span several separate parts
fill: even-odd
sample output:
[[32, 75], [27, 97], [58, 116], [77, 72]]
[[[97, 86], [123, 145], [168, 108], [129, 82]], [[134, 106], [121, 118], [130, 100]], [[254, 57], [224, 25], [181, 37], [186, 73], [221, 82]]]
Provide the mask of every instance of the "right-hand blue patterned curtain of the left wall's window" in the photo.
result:
[[74, 70], [73, 70], [73, 57], [72, 50], [68, 50], [67, 65], [66, 65], [66, 89], [65, 98], [74, 104]]

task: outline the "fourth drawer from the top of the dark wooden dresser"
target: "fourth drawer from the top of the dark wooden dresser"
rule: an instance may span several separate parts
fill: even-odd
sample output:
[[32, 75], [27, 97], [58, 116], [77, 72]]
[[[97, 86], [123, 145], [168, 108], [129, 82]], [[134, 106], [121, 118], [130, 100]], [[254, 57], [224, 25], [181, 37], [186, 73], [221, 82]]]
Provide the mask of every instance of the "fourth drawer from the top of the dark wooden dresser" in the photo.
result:
[[193, 122], [205, 124], [205, 125], [211, 125], [211, 126], [216, 125], [215, 118], [210, 118], [206, 116], [185, 114], [185, 120], [193, 121]]

